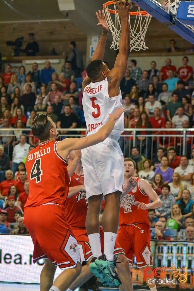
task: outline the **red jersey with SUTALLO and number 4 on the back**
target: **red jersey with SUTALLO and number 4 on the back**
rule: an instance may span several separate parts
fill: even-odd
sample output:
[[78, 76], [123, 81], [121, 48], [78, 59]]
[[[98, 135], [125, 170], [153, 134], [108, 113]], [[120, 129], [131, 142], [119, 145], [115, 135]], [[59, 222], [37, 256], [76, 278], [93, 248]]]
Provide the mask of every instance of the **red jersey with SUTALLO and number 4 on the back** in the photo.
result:
[[57, 152], [57, 142], [41, 143], [32, 149], [26, 158], [26, 170], [30, 193], [25, 207], [65, 202], [69, 174], [66, 160]]

